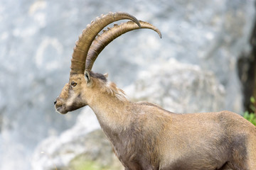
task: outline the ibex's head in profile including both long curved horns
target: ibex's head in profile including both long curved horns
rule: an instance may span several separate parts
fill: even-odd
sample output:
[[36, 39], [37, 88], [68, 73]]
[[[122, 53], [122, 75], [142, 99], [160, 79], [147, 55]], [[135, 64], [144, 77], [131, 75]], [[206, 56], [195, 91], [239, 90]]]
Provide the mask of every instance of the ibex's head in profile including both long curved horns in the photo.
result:
[[[98, 35], [105, 26], [122, 19], [131, 21], [122, 23], [119, 26], [114, 25], [113, 28], [103, 30], [103, 33]], [[88, 104], [86, 98], [93, 97], [92, 93], [95, 94], [100, 91], [97, 88], [104, 86], [107, 82], [107, 76], [95, 74], [91, 71], [97, 56], [119, 35], [139, 28], [155, 30], [161, 38], [161, 33], [156, 27], [150, 23], [138, 21], [137, 18], [128, 13], [108, 13], [92, 21], [82, 31], [82, 35], [80, 35], [75, 44], [70, 67], [70, 79], [68, 84], [65, 84], [60, 96], [54, 101], [56, 111], [65, 114], [68, 111], [74, 111], [86, 106]]]

